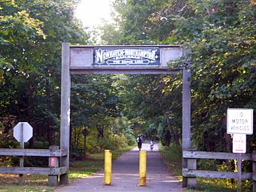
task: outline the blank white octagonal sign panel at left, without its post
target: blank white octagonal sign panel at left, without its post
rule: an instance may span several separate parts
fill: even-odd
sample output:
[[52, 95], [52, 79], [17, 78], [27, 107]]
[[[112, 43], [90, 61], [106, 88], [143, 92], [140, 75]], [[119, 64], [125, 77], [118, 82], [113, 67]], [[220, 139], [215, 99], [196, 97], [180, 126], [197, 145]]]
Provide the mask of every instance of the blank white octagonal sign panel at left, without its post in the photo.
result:
[[14, 126], [14, 138], [18, 142], [28, 142], [33, 135], [33, 128], [28, 122], [19, 122]]

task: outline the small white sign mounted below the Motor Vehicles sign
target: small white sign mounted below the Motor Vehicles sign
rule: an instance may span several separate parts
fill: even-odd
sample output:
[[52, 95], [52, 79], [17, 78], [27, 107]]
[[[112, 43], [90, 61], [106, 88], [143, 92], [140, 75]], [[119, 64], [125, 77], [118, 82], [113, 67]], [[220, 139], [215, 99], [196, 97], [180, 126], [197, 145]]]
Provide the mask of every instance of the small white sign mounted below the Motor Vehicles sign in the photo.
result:
[[246, 135], [233, 134], [233, 153], [245, 154], [246, 153]]

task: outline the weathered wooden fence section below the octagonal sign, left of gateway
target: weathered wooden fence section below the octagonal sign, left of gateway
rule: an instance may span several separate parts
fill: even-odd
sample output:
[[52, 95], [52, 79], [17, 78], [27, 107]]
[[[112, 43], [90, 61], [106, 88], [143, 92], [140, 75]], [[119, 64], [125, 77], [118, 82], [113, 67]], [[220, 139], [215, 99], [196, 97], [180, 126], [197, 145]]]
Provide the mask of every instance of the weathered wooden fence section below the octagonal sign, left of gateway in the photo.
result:
[[49, 157], [48, 167], [20, 167], [0, 166], [0, 173], [4, 174], [35, 174], [48, 175], [48, 184], [56, 186], [58, 176], [65, 174], [68, 169], [66, 166], [59, 167], [59, 157], [67, 156], [68, 152], [53, 145], [49, 149], [20, 149], [20, 148], [0, 148], [0, 156], [20, 156], [20, 157]]

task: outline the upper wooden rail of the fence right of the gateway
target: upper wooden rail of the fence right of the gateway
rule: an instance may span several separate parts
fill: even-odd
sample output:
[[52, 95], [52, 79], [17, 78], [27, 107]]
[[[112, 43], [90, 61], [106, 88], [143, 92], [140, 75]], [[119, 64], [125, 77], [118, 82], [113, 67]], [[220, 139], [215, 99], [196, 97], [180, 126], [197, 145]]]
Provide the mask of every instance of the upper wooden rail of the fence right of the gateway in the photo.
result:
[[[183, 158], [187, 159], [214, 159], [214, 160], [236, 160], [238, 154], [206, 151], [183, 151]], [[251, 154], [241, 154], [242, 160], [251, 160]]]

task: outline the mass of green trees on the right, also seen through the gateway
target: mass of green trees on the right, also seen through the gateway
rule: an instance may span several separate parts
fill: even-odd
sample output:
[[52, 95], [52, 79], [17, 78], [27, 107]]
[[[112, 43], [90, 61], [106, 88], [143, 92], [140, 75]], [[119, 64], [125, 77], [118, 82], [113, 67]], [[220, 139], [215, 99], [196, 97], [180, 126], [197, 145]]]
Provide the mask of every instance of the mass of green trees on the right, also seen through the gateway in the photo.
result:
[[[123, 35], [120, 44], [155, 41], [191, 50], [193, 143], [203, 151], [230, 151], [227, 108], [255, 106], [255, 5], [241, 0], [115, 1], [114, 8]], [[175, 67], [180, 64], [175, 62]], [[128, 98], [133, 99], [125, 112], [141, 122], [150, 121], [143, 126], [149, 132], [157, 126], [163, 143], [178, 144], [181, 75], [128, 79]], [[248, 151], [253, 150], [252, 137], [248, 143]]]

